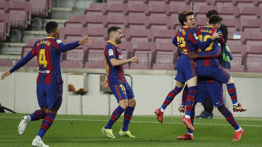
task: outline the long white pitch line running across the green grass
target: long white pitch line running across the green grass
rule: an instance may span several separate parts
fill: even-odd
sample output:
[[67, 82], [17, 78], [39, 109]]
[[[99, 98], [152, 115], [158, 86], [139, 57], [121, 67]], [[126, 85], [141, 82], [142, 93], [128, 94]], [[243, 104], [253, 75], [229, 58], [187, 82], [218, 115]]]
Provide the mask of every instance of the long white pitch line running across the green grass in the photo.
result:
[[[0, 117], [0, 118], [19, 118], [20, 117]], [[55, 120], [66, 120], [66, 121], [108, 121], [108, 120], [95, 120], [95, 119], [62, 119], [62, 118], [56, 118]], [[152, 121], [132, 121], [136, 123], [155, 123], [159, 124], [159, 122], [152, 122]], [[165, 122], [165, 124], [182, 124], [182, 123], [176, 123], [176, 122]], [[199, 124], [199, 123], [194, 123]], [[200, 124], [200, 125], [215, 125], [215, 126], [228, 126], [229, 124]], [[248, 126], [248, 127], [262, 127], [262, 126], [257, 126], [257, 125], [246, 125], [246, 124], [241, 124], [240, 126]]]

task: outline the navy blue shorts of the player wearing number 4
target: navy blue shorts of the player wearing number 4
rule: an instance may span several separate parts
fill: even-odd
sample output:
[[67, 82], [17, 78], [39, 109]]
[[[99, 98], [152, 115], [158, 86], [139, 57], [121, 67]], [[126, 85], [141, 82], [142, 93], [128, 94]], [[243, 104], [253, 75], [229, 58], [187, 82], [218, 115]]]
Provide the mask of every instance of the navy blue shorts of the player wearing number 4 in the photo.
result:
[[39, 107], [48, 109], [60, 108], [62, 104], [63, 83], [36, 84], [36, 94]]

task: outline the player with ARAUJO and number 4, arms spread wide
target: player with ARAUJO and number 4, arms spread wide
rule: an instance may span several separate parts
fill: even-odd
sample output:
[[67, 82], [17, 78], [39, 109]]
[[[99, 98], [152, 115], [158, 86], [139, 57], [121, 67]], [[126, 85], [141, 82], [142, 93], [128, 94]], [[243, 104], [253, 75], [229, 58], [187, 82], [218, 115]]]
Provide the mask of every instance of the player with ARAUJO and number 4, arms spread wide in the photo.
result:
[[32, 142], [32, 146], [34, 147], [49, 147], [43, 143], [42, 138], [53, 124], [54, 118], [62, 103], [63, 80], [60, 69], [61, 52], [72, 50], [79, 45], [89, 45], [91, 43], [91, 40], [89, 40], [90, 37], [87, 35], [79, 41], [64, 44], [59, 39], [60, 29], [55, 21], [50, 21], [46, 24], [46, 32], [46, 38], [35, 42], [32, 50], [29, 51], [24, 58], [19, 60], [10, 71], [5, 72], [1, 76], [1, 80], [4, 80], [6, 76], [37, 56], [39, 71], [36, 80], [36, 91], [40, 110], [24, 116], [18, 126], [18, 133], [23, 135], [30, 121], [43, 119], [39, 132]]

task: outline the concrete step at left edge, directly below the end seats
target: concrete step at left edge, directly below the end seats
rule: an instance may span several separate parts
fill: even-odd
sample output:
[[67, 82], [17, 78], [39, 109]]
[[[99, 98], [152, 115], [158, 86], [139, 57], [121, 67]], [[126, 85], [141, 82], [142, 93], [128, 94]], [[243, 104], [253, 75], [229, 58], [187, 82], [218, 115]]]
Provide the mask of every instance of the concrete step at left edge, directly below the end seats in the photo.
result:
[[10, 43], [10, 42], [3, 42], [1, 46], [0, 54], [7, 54], [7, 55], [20, 55], [22, 52], [23, 46], [25, 43]]

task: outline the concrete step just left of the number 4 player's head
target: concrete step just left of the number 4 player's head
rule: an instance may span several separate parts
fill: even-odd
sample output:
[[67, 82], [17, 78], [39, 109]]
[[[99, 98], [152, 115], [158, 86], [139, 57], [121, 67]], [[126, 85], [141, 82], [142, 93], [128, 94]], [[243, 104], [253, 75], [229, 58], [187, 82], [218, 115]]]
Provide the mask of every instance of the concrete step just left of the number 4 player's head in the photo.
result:
[[46, 31], [23, 31], [22, 42], [25, 43], [28, 39], [43, 39], [46, 37]]

